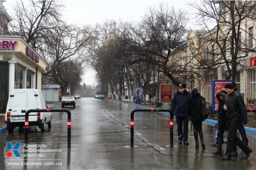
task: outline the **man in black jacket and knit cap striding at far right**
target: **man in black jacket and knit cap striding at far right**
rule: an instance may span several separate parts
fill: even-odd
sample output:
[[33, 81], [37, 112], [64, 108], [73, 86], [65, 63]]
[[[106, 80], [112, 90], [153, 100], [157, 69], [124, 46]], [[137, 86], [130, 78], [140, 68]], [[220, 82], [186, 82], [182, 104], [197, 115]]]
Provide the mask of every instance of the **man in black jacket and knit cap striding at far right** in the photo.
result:
[[227, 83], [225, 85], [225, 91], [227, 92], [227, 96], [225, 98], [224, 110], [226, 111], [229, 133], [227, 135], [226, 155], [221, 159], [225, 161], [230, 160], [235, 144], [245, 152], [244, 158], [246, 159], [250, 157], [252, 150], [236, 136], [240, 119], [247, 119], [246, 107], [242, 97], [234, 92], [233, 84]]

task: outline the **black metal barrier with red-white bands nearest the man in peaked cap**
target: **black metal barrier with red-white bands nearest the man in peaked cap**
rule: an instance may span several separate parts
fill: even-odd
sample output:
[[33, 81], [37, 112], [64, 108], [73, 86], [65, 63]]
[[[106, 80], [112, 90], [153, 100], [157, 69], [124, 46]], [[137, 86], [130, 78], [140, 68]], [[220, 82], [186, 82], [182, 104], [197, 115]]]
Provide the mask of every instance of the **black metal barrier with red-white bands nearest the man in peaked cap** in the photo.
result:
[[135, 112], [169, 112], [170, 113], [170, 147], [173, 147], [173, 113], [170, 109], [161, 109], [161, 108], [135, 108], [131, 111], [131, 147], [133, 146], [133, 136], [134, 136], [134, 113]]

